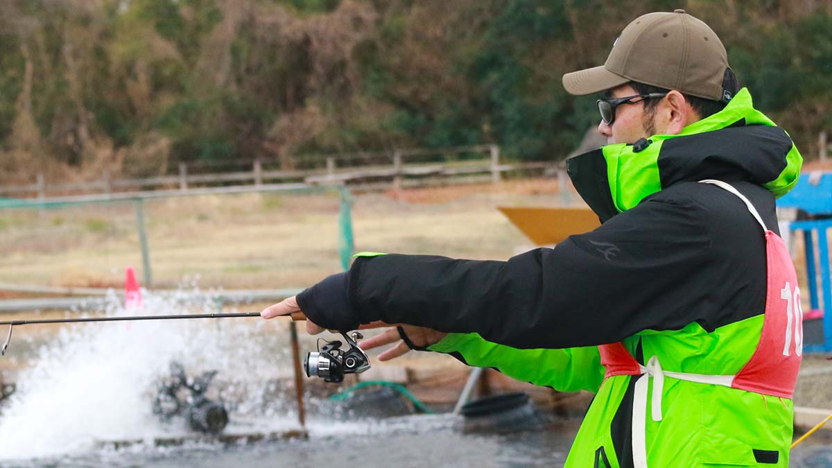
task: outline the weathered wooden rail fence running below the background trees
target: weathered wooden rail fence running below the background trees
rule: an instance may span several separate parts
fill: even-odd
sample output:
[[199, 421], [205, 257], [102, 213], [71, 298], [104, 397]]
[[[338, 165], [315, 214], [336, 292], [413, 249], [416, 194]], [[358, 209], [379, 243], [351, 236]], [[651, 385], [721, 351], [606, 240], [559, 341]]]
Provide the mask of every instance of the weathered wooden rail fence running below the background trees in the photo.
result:
[[[483, 154], [481, 158], [459, 158], [459, 155]], [[250, 170], [214, 173], [194, 173], [196, 168], [204, 169], [200, 164], [181, 163], [178, 174], [161, 177], [135, 179], [112, 179], [104, 175], [102, 179], [91, 182], [46, 182], [38, 174], [32, 184], [17, 186], [0, 186], [0, 194], [17, 197], [45, 198], [68, 193], [113, 193], [133, 192], [156, 189], [175, 189], [186, 192], [194, 187], [210, 185], [250, 185], [263, 186], [275, 182], [296, 185], [302, 182], [308, 185], [379, 184], [395, 188], [424, 185], [436, 179], [448, 182], [470, 180], [479, 176], [479, 180], [499, 182], [504, 172], [542, 171], [558, 167], [556, 162], [519, 162], [501, 164], [500, 149], [497, 145], [478, 145], [470, 147], [453, 147], [441, 149], [398, 149], [389, 155], [361, 153], [358, 155], [316, 157], [312, 166], [305, 169], [285, 171], [269, 170], [265, 167], [275, 165], [275, 160], [255, 159], [248, 162]], [[457, 156], [457, 158], [453, 158]], [[437, 161], [438, 158], [441, 160]], [[369, 165], [352, 165], [354, 162], [381, 162]], [[386, 161], [385, 161], [386, 160]], [[309, 160], [307, 160], [308, 162]], [[360, 162], [360, 161], [359, 161]], [[339, 163], [343, 163], [343, 167]], [[309, 164], [307, 164], [309, 165]], [[210, 167], [209, 167], [210, 168]], [[466, 179], [468, 177], [468, 179]]]

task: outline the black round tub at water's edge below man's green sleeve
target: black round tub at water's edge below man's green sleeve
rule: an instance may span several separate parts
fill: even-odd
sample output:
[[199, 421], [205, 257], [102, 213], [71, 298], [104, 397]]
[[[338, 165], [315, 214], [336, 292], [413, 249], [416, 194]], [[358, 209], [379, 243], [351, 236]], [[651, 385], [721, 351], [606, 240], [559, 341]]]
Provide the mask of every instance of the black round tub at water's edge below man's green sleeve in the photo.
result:
[[547, 425], [525, 393], [507, 393], [463, 406], [456, 429], [463, 433], [534, 431]]

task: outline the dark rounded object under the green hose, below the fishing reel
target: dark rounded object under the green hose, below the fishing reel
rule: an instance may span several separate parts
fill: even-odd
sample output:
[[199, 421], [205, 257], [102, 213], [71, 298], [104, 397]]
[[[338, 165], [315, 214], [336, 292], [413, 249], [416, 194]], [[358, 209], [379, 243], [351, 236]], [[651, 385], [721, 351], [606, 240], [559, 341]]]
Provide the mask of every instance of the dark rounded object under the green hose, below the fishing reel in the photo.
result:
[[414, 404], [389, 386], [364, 388], [339, 400], [329, 400], [322, 408], [339, 419], [407, 416], [416, 412]]

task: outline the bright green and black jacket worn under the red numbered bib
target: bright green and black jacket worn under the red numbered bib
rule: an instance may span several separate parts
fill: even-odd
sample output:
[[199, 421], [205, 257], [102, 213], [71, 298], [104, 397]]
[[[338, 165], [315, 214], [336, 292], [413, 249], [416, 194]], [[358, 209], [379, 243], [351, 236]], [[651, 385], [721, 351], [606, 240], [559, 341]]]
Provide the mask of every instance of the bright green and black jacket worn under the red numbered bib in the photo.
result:
[[[739, 198], [697, 181], [731, 183], [776, 232], [775, 197], [794, 186], [802, 162], [745, 89], [681, 134], [639, 143], [567, 162], [602, 220], [592, 232], [508, 261], [359, 256], [347, 274], [302, 293], [300, 306], [325, 327], [382, 320], [447, 331], [432, 351], [596, 392], [567, 466], [631, 466], [635, 380], [604, 381], [595, 346], [622, 341], [642, 364], [659, 355], [669, 371], [739, 371], [760, 337], [765, 239]], [[702, 387], [666, 386], [666, 417], [647, 427], [651, 466], [787, 466], [790, 401]]]

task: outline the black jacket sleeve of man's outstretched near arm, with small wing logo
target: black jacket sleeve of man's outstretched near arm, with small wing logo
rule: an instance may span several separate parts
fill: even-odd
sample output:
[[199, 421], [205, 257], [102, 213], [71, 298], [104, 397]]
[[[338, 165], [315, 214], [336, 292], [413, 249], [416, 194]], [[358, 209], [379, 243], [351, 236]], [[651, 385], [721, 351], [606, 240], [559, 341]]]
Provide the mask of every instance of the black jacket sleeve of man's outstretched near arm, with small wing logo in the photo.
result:
[[[681, 185], [595, 231], [508, 261], [359, 258], [349, 271], [352, 313], [516, 348], [598, 345], [692, 321], [710, 331], [762, 313], [760, 226], [730, 193]], [[756, 188], [755, 197], [770, 198]], [[760, 211], [771, 220], [773, 198]]]

